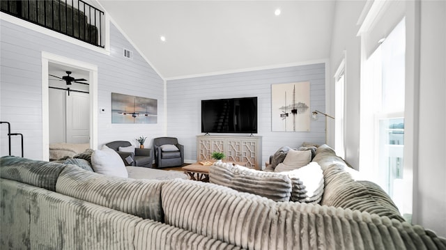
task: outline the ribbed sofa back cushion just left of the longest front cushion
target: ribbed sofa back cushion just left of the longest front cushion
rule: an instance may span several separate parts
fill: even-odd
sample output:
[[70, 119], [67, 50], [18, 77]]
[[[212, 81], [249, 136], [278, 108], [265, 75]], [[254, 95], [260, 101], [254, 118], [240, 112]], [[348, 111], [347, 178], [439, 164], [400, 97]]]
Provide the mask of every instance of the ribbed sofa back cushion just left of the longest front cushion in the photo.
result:
[[68, 165], [56, 192], [107, 208], [162, 221], [160, 180], [132, 180], [85, 171]]

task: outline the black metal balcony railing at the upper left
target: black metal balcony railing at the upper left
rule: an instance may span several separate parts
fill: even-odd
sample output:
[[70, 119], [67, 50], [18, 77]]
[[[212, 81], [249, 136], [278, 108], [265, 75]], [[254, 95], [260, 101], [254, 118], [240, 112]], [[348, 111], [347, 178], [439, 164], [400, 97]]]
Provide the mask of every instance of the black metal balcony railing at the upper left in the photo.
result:
[[1, 12], [104, 47], [104, 12], [82, 0], [0, 1]]

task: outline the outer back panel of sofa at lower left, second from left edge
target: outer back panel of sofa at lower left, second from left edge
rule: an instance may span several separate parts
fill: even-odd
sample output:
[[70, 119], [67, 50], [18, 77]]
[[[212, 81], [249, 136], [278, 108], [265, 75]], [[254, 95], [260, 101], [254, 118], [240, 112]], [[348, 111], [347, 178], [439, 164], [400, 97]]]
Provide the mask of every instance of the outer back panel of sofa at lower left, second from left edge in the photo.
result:
[[45, 189], [32, 199], [31, 249], [134, 249], [139, 217]]

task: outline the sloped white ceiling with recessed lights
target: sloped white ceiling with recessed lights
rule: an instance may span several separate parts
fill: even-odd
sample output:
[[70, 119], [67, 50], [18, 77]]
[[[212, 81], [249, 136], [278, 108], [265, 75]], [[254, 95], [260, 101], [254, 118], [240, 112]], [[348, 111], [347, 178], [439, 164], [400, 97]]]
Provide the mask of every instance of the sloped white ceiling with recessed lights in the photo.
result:
[[330, 56], [334, 0], [98, 2], [165, 79]]

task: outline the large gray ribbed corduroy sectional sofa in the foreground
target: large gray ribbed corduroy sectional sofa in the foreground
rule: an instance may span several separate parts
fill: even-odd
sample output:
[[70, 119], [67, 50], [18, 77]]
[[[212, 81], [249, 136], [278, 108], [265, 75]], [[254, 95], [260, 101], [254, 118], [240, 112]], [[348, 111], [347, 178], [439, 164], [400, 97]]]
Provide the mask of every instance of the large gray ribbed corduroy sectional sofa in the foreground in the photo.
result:
[[314, 161], [325, 178], [319, 204], [1, 157], [0, 248], [446, 249], [445, 238], [405, 222], [378, 187], [355, 183], [329, 147]]

